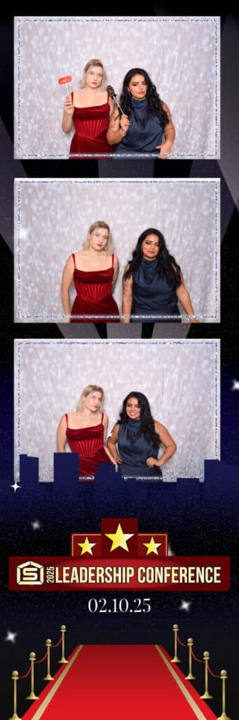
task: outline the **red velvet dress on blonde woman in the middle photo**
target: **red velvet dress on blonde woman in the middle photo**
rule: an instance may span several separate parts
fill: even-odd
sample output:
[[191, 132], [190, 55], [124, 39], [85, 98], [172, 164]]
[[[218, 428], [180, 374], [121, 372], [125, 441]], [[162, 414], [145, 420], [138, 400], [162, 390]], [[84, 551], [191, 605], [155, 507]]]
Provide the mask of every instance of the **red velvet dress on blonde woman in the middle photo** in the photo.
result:
[[[91, 315], [90, 318], [71, 318], [71, 323], [119, 323], [118, 305], [112, 295], [113, 258], [107, 270], [78, 270], [75, 266], [73, 281], [77, 296], [72, 305], [72, 315]], [[103, 315], [103, 317], [100, 317]], [[106, 315], [114, 315], [107, 318]]]

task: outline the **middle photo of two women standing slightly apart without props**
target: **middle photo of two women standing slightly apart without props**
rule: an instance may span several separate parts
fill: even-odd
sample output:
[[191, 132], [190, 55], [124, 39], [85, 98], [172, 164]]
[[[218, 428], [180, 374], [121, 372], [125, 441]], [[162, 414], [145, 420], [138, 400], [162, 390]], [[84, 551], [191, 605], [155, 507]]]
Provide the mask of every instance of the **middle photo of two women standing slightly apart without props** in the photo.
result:
[[220, 180], [15, 180], [14, 320], [220, 322]]

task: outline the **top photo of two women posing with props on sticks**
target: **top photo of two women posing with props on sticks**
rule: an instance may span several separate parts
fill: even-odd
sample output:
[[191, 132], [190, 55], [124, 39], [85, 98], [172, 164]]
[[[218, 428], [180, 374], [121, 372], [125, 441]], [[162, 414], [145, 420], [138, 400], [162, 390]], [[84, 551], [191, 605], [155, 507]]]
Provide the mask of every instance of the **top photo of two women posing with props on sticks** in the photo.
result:
[[15, 158], [220, 158], [219, 17], [14, 28]]

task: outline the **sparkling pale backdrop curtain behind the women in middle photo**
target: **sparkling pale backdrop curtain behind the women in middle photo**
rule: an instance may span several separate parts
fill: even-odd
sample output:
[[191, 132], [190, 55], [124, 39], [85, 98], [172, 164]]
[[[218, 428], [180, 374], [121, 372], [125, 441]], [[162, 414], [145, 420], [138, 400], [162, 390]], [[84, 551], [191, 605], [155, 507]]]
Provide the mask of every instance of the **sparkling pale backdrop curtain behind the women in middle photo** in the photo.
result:
[[[91, 223], [113, 233], [120, 276], [146, 228], [158, 228], [181, 266], [197, 315], [219, 320], [219, 180], [15, 181], [15, 318], [62, 317], [62, 270]], [[71, 301], [75, 290], [72, 287]], [[183, 312], [183, 311], [182, 311]], [[188, 322], [188, 320], [185, 320]]]

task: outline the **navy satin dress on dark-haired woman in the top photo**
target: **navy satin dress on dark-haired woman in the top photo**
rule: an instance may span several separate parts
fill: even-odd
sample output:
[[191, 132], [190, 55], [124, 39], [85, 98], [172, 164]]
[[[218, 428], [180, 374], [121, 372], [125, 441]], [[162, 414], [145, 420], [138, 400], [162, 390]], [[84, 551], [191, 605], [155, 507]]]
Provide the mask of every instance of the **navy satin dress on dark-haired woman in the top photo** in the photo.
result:
[[151, 114], [147, 100], [132, 98], [130, 127], [121, 143], [113, 146], [113, 154], [120, 153], [156, 153], [156, 145], [161, 145], [163, 130], [156, 115]]

